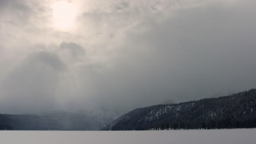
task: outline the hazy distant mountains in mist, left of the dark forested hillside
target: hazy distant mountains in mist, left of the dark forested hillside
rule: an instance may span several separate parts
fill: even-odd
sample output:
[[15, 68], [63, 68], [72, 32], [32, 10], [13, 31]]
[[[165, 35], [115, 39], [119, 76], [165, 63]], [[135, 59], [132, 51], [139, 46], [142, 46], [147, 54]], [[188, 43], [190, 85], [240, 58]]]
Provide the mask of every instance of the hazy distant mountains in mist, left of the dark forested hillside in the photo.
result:
[[43, 112], [34, 115], [0, 114], [1, 130], [100, 130], [117, 115], [106, 109], [94, 111]]

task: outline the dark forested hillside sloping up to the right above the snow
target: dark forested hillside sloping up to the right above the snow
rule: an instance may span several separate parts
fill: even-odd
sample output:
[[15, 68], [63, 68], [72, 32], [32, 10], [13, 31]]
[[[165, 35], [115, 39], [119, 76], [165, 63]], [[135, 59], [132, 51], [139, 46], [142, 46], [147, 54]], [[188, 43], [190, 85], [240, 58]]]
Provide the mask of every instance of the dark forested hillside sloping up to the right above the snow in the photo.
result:
[[103, 130], [256, 127], [256, 89], [226, 97], [135, 109]]

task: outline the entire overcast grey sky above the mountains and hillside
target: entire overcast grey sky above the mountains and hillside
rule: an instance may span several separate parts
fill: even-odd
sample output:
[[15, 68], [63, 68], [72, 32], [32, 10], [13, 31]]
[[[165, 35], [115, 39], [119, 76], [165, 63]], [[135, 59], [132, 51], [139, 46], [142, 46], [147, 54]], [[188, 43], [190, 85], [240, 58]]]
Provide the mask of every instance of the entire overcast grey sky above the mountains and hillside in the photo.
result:
[[256, 88], [256, 2], [0, 0], [0, 113]]

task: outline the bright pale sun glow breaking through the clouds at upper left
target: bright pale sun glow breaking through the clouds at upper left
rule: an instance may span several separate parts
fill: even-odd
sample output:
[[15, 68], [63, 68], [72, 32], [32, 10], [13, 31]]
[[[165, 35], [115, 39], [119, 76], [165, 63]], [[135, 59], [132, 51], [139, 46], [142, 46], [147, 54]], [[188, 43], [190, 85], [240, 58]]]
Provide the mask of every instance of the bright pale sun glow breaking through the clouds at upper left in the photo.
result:
[[75, 25], [77, 10], [75, 5], [67, 1], [58, 1], [52, 5], [53, 26], [60, 31], [68, 31]]

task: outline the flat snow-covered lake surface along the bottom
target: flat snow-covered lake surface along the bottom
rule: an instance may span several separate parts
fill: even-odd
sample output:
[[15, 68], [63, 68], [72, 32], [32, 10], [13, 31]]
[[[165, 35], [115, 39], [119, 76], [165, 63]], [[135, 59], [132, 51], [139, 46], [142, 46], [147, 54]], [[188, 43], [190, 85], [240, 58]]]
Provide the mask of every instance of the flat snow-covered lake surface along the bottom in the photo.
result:
[[1, 143], [256, 143], [256, 129], [161, 131], [0, 131]]

